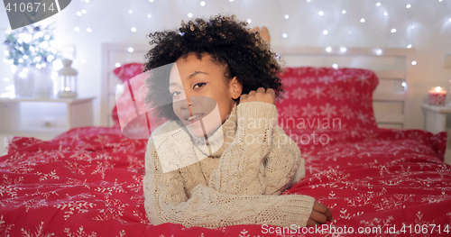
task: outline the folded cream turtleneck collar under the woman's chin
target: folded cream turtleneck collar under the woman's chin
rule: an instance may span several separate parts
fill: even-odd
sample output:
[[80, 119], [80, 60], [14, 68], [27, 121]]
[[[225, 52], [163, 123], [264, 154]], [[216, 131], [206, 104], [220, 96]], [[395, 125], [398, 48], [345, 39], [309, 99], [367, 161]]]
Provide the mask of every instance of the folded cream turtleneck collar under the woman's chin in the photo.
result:
[[221, 157], [224, 150], [235, 140], [237, 127], [236, 106], [235, 103], [232, 111], [227, 116], [226, 122], [222, 123], [215, 132], [207, 136], [207, 139], [191, 135], [194, 145], [207, 156], [213, 158]]

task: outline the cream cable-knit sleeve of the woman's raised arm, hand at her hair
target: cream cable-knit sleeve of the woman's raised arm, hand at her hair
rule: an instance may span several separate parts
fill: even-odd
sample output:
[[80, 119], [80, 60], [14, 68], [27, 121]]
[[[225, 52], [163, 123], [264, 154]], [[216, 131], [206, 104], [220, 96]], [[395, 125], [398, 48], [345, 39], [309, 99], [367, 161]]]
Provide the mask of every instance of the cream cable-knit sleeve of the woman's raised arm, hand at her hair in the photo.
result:
[[277, 125], [275, 105], [240, 104], [237, 122], [235, 140], [213, 171], [210, 187], [235, 195], [279, 195], [303, 177], [299, 147]]

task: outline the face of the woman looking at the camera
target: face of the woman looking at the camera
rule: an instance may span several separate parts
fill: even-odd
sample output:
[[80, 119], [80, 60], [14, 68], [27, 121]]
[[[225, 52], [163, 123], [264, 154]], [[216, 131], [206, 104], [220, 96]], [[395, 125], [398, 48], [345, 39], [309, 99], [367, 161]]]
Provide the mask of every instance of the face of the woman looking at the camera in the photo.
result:
[[189, 132], [203, 137], [215, 132], [241, 96], [242, 86], [234, 77], [226, 82], [226, 66], [214, 63], [207, 54], [198, 59], [190, 53], [180, 57], [170, 70], [170, 95], [174, 113]]

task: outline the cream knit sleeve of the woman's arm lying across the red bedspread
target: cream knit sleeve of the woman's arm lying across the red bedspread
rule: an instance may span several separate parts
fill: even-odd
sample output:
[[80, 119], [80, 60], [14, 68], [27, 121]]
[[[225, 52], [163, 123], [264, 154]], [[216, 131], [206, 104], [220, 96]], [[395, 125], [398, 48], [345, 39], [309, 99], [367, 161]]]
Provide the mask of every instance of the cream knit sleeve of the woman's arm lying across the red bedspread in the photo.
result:
[[198, 185], [187, 196], [178, 170], [163, 173], [152, 142], [146, 151], [143, 183], [145, 210], [152, 224], [218, 228], [234, 224], [305, 226], [315, 199], [311, 196], [232, 195]]

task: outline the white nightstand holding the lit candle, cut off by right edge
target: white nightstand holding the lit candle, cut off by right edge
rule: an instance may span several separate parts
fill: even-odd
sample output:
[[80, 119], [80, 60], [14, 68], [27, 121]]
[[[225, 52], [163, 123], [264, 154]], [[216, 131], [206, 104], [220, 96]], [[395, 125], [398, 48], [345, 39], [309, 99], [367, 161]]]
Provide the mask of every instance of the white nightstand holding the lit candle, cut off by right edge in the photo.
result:
[[[425, 114], [425, 130], [436, 134], [446, 131], [446, 114], [451, 114], [449, 105], [428, 105], [423, 104], [423, 113]], [[446, 147], [445, 162], [451, 164], [451, 149], [449, 149], [450, 133], [448, 132], [448, 145]]]

